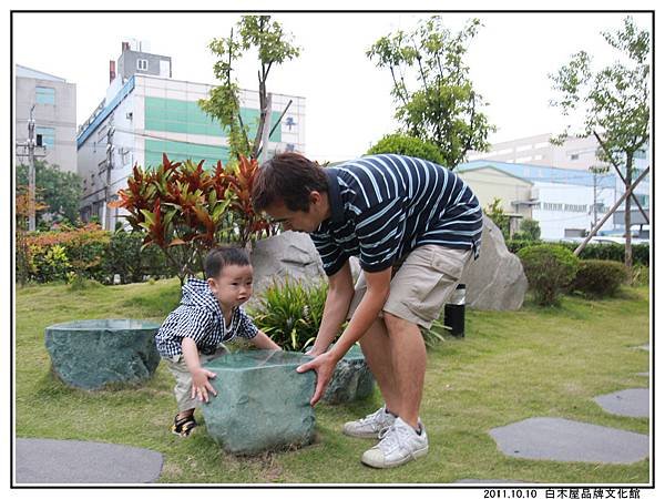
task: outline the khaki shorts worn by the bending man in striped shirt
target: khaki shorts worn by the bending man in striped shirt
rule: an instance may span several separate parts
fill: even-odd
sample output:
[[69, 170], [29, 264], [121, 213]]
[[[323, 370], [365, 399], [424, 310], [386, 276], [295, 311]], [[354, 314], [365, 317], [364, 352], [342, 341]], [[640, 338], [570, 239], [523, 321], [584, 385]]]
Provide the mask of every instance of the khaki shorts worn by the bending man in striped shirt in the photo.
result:
[[[392, 267], [390, 295], [382, 310], [429, 329], [456, 289], [472, 255], [472, 249], [433, 244], [417, 247], [401, 264]], [[365, 273], [360, 272], [347, 318], [351, 318], [366, 291]]]

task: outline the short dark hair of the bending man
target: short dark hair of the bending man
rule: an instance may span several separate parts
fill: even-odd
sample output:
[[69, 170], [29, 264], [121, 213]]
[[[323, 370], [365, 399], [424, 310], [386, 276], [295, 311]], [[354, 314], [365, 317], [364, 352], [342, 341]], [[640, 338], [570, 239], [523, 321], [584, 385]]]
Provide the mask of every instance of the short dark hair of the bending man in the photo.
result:
[[328, 192], [323, 166], [297, 153], [276, 154], [258, 169], [252, 187], [252, 204], [257, 213], [280, 201], [291, 212], [309, 212], [309, 193], [313, 191]]

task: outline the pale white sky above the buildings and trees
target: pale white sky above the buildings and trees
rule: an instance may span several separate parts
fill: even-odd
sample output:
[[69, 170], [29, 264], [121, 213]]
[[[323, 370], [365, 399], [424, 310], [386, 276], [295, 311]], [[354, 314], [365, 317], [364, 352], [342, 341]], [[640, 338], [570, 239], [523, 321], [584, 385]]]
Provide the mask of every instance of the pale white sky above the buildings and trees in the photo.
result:
[[[239, 13], [14, 13], [14, 63], [52, 73], [76, 84], [76, 121], [99, 104], [109, 84], [109, 60], [121, 42], [135, 38], [150, 52], [170, 55], [173, 78], [215, 83], [213, 38], [226, 37]], [[478, 17], [483, 28], [469, 45], [468, 65], [484, 112], [498, 126], [491, 142], [559, 133], [564, 121], [549, 105], [554, 96], [549, 72], [586, 50], [598, 63], [615, 52], [600, 32], [621, 27], [624, 13], [443, 13], [457, 32]], [[272, 70], [268, 91], [306, 98], [306, 153], [319, 161], [364, 154], [398, 128], [390, 95], [391, 78], [365, 55], [381, 35], [408, 29], [427, 13], [275, 13], [303, 48], [294, 61]], [[651, 27], [651, 14], [633, 14]], [[238, 65], [242, 88], [256, 90], [257, 63]]]

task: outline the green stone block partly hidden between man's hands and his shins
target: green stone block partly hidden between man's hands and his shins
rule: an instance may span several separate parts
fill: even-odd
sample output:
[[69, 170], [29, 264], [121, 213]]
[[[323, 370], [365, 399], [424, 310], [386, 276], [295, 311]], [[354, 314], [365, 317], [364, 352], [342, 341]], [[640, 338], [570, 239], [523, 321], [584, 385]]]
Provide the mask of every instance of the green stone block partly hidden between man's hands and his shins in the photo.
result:
[[358, 345], [354, 345], [337, 363], [323, 400], [328, 404], [360, 400], [369, 397], [374, 387], [375, 379], [365, 361], [362, 350]]

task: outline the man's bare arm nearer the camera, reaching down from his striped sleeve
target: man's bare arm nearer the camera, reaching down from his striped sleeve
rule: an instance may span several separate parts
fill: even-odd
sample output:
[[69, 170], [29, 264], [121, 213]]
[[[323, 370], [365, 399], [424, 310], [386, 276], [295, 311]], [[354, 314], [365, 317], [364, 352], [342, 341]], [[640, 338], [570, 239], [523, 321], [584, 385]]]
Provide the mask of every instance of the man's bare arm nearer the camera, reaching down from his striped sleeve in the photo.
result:
[[[383, 271], [365, 273], [367, 282], [367, 292], [362, 296], [358, 308], [354, 313], [349, 325], [339, 337], [335, 346], [327, 353], [319, 355], [314, 360], [298, 366], [298, 373], [305, 373], [309, 369], [316, 370], [316, 388], [314, 396], [309, 401], [313, 406], [323, 397], [328, 381], [332, 377], [335, 366], [348, 349], [369, 329], [377, 319], [383, 304], [390, 293], [390, 277], [392, 268]], [[347, 305], [348, 312], [348, 305]], [[346, 312], [345, 312], [346, 315]]]

